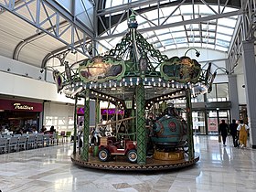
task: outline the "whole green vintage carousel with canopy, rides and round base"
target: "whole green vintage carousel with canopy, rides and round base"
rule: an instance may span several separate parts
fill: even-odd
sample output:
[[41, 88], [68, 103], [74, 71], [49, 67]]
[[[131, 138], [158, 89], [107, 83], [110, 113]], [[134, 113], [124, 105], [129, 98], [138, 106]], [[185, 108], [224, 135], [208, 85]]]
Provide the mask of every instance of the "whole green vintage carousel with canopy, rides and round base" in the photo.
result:
[[[84, 122], [78, 135], [74, 112], [74, 164], [108, 170], [162, 170], [194, 165], [191, 98], [211, 91], [216, 73], [201, 69], [196, 59], [160, 53], [137, 32], [132, 14], [128, 32], [104, 56], [65, 64], [53, 71], [58, 91], [73, 98], [75, 107], [84, 98]], [[199, 52], [196, 48], [189, 48]], [[187, 101], [186, 117], [170, 102]], [[96, 114], [91, 114], [90, 101]], [[105, 123], [100, 118], [100, 102], [115, 106]], [[122, 112], [121, 112], [122, 111]], [[96, 123], [90, 127], [90, 115]], [[82, 135], [82, 144], [77, 142]]]

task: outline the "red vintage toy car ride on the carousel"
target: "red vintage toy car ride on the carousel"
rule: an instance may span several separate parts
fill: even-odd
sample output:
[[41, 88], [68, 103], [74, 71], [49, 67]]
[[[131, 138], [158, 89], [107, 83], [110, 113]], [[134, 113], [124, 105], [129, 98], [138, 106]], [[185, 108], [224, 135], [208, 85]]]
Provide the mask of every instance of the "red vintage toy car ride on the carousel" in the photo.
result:
[[115, 137], [101, 137], [99, 145], [99, 159], [102, 162], [109, 161], [115, 155], [126, 155], [131, 163], [137, 162], [137, 142], [129, 139], [116, 141]]

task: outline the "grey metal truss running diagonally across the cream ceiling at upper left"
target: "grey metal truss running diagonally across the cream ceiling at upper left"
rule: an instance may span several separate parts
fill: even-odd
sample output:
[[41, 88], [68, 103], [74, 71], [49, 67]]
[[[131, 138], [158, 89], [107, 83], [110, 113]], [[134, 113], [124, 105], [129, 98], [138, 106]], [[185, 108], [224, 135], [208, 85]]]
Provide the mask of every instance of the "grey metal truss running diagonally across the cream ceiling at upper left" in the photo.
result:
[[[0, 7], [37, 27], [37, 34], [48, 34], [67, 45], [67, 48], [75, 49], [81, 54], [89, 56], [86, 49], [86, 40], [93, 37], [93, 31], [83, 25], [76, 16], [69, 14], [56, 1], [1, 0]], [[34, 36], [31, 38], [34, 38]], [[16, 57], [16, 52], [14, 57]]]

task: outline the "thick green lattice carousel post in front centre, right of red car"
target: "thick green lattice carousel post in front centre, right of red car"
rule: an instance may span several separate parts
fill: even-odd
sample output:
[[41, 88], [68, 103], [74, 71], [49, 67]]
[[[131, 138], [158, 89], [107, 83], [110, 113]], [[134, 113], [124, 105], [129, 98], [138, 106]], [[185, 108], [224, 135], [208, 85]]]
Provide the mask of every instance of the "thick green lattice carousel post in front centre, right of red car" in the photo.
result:
[[145, 118], [144, 118], [144, 85], [136, 86], [136, 127], [138, 165], [146, 163]]

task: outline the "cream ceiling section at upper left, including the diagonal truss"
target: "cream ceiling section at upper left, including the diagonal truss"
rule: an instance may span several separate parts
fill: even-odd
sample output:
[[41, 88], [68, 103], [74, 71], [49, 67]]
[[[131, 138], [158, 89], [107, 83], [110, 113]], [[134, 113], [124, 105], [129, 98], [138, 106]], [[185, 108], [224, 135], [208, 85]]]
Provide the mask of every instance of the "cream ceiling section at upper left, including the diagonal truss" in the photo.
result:
[[84, 0], [0, 0], [0, 54], [36, 67], [63, 51], [60, 57], [71, 62], [85, 59], [93, 27], [84, 22], [91, 21], [91, 9]]

